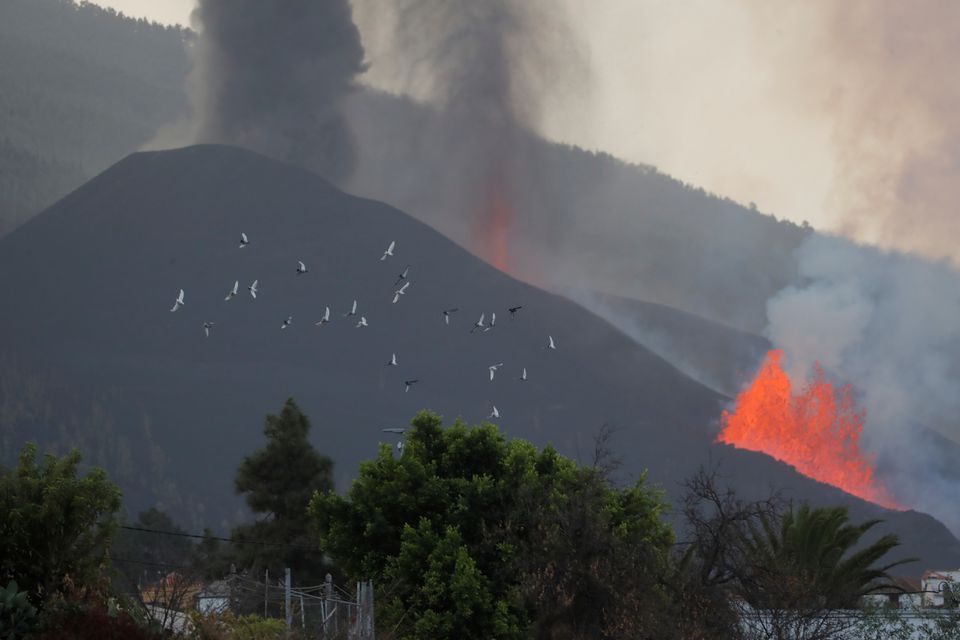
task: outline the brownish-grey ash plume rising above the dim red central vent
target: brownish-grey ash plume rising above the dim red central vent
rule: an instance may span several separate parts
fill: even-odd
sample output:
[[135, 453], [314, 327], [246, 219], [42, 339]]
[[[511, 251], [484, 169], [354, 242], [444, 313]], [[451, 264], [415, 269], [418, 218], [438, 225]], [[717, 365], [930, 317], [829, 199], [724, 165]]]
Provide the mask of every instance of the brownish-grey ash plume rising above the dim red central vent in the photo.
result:
[[[556, 3], [358, 0], [355, 6], [373, 51], [368, 80], [435, 109], [428, 122], [358, 123], [368, 139], [366, 175], [356, 188], [416, 211], [513, 271], [512, 258], [522, 252], [507, 243], [522, 232], [517, 210], [529, 204], [519, 191], [521, 185], [539, 191], [528, 156], [541, 98], [560, 84], [561, 68], [576, 66], [568, 64], [575, 59], [568, 55], [572, 38]], [[398, 145], [407, 161], [384, 163]], [[391, 169], [371, 171], [378, 163]]]

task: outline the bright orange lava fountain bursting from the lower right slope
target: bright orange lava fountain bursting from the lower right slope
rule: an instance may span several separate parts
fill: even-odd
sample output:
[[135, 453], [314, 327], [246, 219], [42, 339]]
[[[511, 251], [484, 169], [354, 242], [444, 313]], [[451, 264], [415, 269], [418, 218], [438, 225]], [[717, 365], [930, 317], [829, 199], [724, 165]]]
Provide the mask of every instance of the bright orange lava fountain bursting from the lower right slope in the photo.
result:
[[737, 396], [733, 413], [723, 412], [717, 440], [760, 451], [814, 480], [892, 509], [901, 508], [877, 481], [873, 461], [860, 451], [862, 413], [849, 386], [834, 390], [817, 365], [799, 393], [771, 351], [750, 387]]

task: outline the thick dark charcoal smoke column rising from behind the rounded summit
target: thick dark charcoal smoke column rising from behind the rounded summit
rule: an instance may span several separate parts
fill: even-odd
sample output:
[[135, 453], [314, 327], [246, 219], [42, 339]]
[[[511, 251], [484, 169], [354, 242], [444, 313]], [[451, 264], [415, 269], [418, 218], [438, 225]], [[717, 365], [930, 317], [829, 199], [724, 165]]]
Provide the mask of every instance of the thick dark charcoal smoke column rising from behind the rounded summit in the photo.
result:
[[348, 0], [198, 0], [192, 18], [196, 141], [347, 177], [356, 150], [341, 105], [364, 70]]

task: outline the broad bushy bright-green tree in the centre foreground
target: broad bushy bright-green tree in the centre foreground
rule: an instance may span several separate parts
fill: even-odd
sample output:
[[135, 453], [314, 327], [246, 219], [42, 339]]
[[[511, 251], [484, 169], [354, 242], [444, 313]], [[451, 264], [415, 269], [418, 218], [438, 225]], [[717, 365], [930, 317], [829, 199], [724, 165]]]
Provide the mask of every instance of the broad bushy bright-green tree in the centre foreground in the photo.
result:
[[652, 634], [673, 536], [642, 479], [617, 490], [491, 424], [444, 429], [428, 412], [411, 424], [402, 455], [383, 445], [346, 497], [311, 503], [323, 548], [351, 577], [382, 585], [383, 628], [436, 639]]

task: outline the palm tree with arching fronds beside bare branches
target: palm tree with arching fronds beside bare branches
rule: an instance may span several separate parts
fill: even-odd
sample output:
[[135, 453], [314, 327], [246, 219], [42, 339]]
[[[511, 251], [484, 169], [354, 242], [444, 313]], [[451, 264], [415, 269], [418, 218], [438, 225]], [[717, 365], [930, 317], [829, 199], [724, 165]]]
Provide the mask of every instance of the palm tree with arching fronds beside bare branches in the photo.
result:
[[846, 507], [807, 504], [791, 505], [779, 522], [762, 518], [746, 540], [751, 570], [742, 581], [744, 598], [765, 609], [856, 607], [862, 596], [890, 581], [890, 569], [913, 561], [875, 566], [900, 544], [890, 533], [860, 544], [880, 522], [853, 524]]

